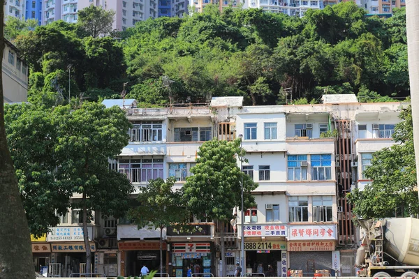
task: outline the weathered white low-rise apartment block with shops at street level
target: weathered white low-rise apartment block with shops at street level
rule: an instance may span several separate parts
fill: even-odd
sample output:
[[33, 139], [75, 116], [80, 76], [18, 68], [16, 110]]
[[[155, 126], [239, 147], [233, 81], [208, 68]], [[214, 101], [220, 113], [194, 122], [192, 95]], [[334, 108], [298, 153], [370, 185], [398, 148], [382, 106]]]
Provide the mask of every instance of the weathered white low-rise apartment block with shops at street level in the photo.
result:
[[[133, 197], [158, 177], [175, 176], [175, 188], [180, 188], [191, 175], [203, 142], [242, 135], [247, 151], [242, 169], [259, 184], [253, 191], [256, 206], [244, 212], [244, 235], [240, 209], [233, 210], [237, 218], [225, 227], [192, 216], [196, 232], [163, 229], [164, 272], [169, 276], [186, 276], [186, 267], [196, 263], [203, 273], [220, 276], [221, 229], [227, 276], [233, 276], [235, 262], [240, 261], [242, 237], [247, 273], [256, 272], [255, 266], [263, 263], [265, 271], [267, 264], [274, 266], [274, 276], [286, 276], [288, 267], [309, 277], [321, 269], [335, 276], [331, 266], [337, 266], [340, 276], [355, 276], [358, 236], [345, 194], [369, 182], [363, 170], [374, 151], [394, 144], [394, 126], [406, 103], [358, 103], [355, 95], [346, 94], [325, 95], [318, 105], [244, 106], [242, 97], [164, 108], [138, 108], [135, 100], [103, 104], [118, 105], [133, 124], [128, 145], [110, 162], [111, 169], [130, 179]], [[332, 130], [337, 130], [336, 138], [321, 137]], [[68, 214], [53, 231], [80, 226], [73, 215]], [[96, 273], [138, 275], [142, 263], [150, 270], [158, 268], [150, 265], [154, 259], [159, 262], [159, 230], [139, 230], [129, 220], [105, 219], [100, 213], [95, 218], [89, 234], [96, 241]], [[48, 234], [50, 260], [73, 262], [76, 253], [54, 250], [72, 243], [73, 238], [58, 241]], [[70, 260], [63, 262], [67, 257]], [[82, 261], [81, 254], [78, 260]]]

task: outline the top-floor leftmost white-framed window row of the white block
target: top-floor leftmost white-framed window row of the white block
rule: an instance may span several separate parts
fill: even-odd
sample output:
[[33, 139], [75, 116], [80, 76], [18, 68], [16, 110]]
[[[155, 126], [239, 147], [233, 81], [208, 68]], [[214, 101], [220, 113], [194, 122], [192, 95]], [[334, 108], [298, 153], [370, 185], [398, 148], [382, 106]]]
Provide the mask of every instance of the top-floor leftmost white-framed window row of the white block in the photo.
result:
[[128, 130], [130, 142], [157, 142], [162, 140], [161, 121], [135, 123]]

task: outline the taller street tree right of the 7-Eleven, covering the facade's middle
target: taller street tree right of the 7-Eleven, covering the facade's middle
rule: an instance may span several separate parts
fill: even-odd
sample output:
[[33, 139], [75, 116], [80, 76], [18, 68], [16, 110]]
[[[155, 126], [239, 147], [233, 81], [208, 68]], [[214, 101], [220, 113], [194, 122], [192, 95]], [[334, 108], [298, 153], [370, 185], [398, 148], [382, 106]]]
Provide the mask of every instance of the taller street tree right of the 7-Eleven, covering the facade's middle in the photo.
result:
[[221, 255], [224, 255], [224, 223], [233, 218], [233, 208], [240, 206], [242, 187], [246, 208], [254, 204], [251, 191], [258, 187], [237, 167], [237, 156], [243, 160], [245, 152], [240, 149], [240, 139], [205, 142], [199, 148], [197, 165], [191, 168], [193, 175], [183, 186], [184, 199], [191, 213], [201, 220], [220, 221]]

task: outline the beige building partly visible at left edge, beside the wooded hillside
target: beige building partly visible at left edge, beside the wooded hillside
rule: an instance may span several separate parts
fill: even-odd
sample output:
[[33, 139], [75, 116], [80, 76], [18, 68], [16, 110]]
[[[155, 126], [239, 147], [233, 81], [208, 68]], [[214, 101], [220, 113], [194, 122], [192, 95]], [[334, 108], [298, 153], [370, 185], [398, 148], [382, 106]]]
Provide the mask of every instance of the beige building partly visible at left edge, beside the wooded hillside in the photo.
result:
[[2, 72], [4, 103], [19, 103], [28, 100], [28, 66], [20, 52], [5, 39]]

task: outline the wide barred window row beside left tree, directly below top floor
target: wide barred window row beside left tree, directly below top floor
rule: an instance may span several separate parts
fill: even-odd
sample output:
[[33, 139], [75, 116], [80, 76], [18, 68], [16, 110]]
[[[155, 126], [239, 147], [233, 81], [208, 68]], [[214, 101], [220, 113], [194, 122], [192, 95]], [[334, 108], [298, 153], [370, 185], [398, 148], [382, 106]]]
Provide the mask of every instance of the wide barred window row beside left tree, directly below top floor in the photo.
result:
[[118, 170], [126, 174], [131, 183], [163, 179], [163, 159], [121, 159]]

